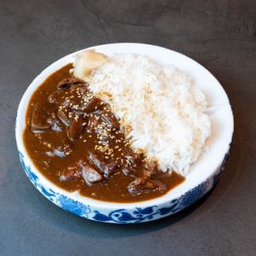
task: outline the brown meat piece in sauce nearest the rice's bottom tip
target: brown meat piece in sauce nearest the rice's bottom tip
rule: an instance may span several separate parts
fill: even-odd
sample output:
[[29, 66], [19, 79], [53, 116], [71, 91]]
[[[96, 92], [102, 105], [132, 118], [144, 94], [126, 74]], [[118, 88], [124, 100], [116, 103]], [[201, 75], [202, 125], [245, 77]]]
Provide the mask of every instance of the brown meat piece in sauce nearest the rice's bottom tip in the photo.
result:
[[160, 180], [150, 179], [148, 177], [137, 177], [128, 185], [127, 189], [133, 195], [140, 195], [154, 189], [165, 192], [167, 187], [164, 183], [161, 183]]

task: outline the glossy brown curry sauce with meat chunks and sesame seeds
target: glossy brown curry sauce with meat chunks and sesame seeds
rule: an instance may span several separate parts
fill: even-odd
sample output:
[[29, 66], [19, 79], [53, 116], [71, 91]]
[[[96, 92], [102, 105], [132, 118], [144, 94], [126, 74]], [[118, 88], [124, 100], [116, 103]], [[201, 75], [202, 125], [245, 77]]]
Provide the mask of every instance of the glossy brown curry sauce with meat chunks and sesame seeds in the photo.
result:
[[50, 75], [29, 102], [23, 140], [39, 171], [62, 189], [101, 201], [145, 201], [183, 183], [132, 152], [109, 106], [70, 68]]

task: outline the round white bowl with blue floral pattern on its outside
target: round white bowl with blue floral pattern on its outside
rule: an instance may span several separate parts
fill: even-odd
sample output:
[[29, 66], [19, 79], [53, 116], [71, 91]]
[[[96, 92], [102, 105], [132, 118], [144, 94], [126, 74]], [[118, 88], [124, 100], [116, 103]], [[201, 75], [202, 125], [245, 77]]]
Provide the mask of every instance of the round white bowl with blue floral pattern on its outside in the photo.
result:
[[[57, 187], [42, 175], [32, 163], [26, 152], [22, 140], [22, 133], [26, 125], [26, 108], [28, 102], [38, 86], [44, 82], [50, 74], [69, 62], [73, 62], [73, 55], [67, 55], [59, 61], [55, 61], [45, 68], [36, 79], [32, 81], [23, 95], [16, 118], [16, 143], [20, 154], [21, 165], [27, 177], [34, 186], [57, 206], [73, 212], [84, 218], [96, 221], [131, 224], [151, 221], [163, 218], [172, 213], [189, 207], [192, 203], [205, 195], [217, 183], [224, 163], [230, 151], [230, 143], [234, 130], [233, 114], [230, 108], [228, 96], [223, 87], [218, 83], [206, 68], [189, 57], [177, 53], [171, 49], [149, 44], [104, 44], [91, 47], [106, 55], [115, 53], [136, 53], [147, 55], [149, 58], [162, 64], [172, 64], [188, 73], [195, 84], [207, 96], [209, 103], [208, 113], [212, 119], [212, 136], [207, 140], [207, 152], [203, 153], [197, 162], [191, 166], [186, 180], [172, 189], [166, 195], [149, 201], [133, 203], [113, 203], [96, 201], [79, 195], [79, 193], [67, 192]], [[83, 49], [84, 50], [84, 49]]]

